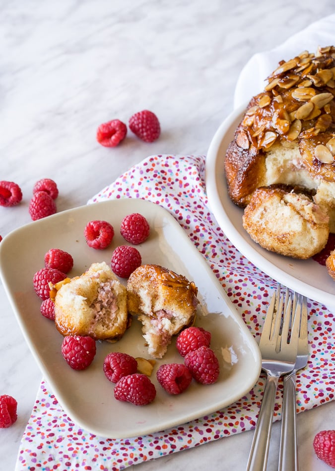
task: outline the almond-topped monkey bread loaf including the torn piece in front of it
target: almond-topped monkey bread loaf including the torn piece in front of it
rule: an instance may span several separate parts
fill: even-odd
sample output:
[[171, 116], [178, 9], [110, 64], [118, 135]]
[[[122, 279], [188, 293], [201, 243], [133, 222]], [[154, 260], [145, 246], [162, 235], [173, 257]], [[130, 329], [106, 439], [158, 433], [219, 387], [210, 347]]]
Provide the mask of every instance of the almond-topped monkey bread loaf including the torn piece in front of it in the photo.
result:
[[[228, 146], [224, 164], [228, 194], [242, 208], [252, 203], [245, 209], [244, 227], [262, 247], [308, 258], [326, 245], [325, 226], [335, 232], [335, 47], [319, 47], [315, 54], [304, 51], [279, 62], [267, 82], [264, 92], [249, 102]], [[285, 185], [286, 190], [281, 187], [277, 197], [273, 188], [262, 190], [254, 197], [257, 188], [273, 185]], [[296, 196], [283, 194], [296, 194], [296, 187], [309, 196], [297, 201]], [[276, 217], [271, 224], [264, 211], [271, 211], [272, 205]], [[281, 216], [285, 205], [289, 217], [287, 212]], [[276, 235], [278, 224], [282, 243]], [[265, 230], [269, 230], [266, 243]], [[292, 231], [296, 244], [287, 254]], [[314, 236], [317, 240], [311, 247]], [[269, 243], [271, 237], [276, 241]]]

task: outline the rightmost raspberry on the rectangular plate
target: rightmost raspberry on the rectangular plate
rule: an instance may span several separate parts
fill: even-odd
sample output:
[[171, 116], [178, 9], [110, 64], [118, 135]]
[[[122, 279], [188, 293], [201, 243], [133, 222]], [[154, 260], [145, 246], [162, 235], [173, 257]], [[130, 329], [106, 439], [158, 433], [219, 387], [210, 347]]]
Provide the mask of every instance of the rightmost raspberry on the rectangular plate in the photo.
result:
[[185, 365], [201, 384], [213, 384], [220, 373], [218, 359], [213, 350], [203, 346], [185, 356]]

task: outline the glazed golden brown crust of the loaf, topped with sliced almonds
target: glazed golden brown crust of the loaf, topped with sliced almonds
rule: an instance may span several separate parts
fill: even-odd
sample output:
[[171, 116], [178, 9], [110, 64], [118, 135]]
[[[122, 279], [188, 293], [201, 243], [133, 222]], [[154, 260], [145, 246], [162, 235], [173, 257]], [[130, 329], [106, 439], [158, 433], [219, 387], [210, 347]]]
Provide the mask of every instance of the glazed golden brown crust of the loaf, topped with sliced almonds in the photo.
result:
[[[335, 182], [335, 48], [304, 51], [268, 77], [265, 91], [247, 107], [225, 158], [229, 196], [239, 206], [253, 191], [277, 183], [301, 184], [302, 170], [309, 188], [320, 181]], [[290, 182], [266, 172], [268, 152], [275, 146], [297, 146], [290, 163]], [[334, 197], [335, 199], [335, 197]]]

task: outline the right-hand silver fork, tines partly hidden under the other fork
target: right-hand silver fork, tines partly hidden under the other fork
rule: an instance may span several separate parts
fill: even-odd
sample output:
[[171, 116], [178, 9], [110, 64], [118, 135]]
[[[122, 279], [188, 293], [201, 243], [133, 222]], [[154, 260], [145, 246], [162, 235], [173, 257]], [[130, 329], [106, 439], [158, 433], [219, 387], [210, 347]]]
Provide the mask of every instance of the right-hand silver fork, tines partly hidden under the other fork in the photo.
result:
[[[298, 340], [298, 354], [291, 373], [284, 377], [284, 393], [281, 420], [281, 438], [279, 448], [278, 471], [298, 470], [298, 446], [296, 428], [296, 399], [295, 399], [295, 374], [307, 365], [308, 361], [308, 327], [307, 327], [307, 299], [300, 297], [302, 304], [301, 323]], [[294, 304], [298, 302], [297, 294], [294, 294]]]

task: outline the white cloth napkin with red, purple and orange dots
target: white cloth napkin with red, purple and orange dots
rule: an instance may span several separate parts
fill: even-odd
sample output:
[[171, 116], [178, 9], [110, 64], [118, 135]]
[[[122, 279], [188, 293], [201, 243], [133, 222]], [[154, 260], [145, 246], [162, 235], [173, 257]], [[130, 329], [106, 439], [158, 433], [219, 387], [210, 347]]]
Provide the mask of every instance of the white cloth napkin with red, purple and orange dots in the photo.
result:
[[[109, 198], [142, 198], [173, 214], [201, 252], [258, 338], [276, 282], [243, 257], [225, 237], [208, 208], [204, 183], [205, 157], [151, 156], [134, 166], [89, 203]], [[298, 412], [334, 399], [335, 319], [325, 306], [310, 300], [307, 367], [297, 374]], [[240, 400], [190, 423], [129, 439], [105, 439], [77, 427], [42, 381], [22, 437], [16, 471], [119, 471], [255, 427], [266, 376]], [[281, 417], [282, 381], [274, 416]]]

